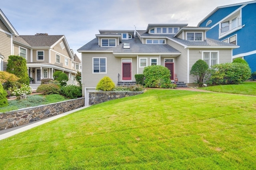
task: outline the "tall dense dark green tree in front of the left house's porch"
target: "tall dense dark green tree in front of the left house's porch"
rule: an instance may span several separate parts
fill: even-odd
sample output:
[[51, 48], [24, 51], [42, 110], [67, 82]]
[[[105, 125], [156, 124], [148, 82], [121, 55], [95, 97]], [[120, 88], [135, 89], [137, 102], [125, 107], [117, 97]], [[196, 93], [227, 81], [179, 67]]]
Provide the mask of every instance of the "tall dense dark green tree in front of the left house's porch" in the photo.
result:
[[26, 66], [26, 59], [17, 55], [10, 55], [6, 71], [19, 77], [18, 82], [29, 85], [29, 77]]

